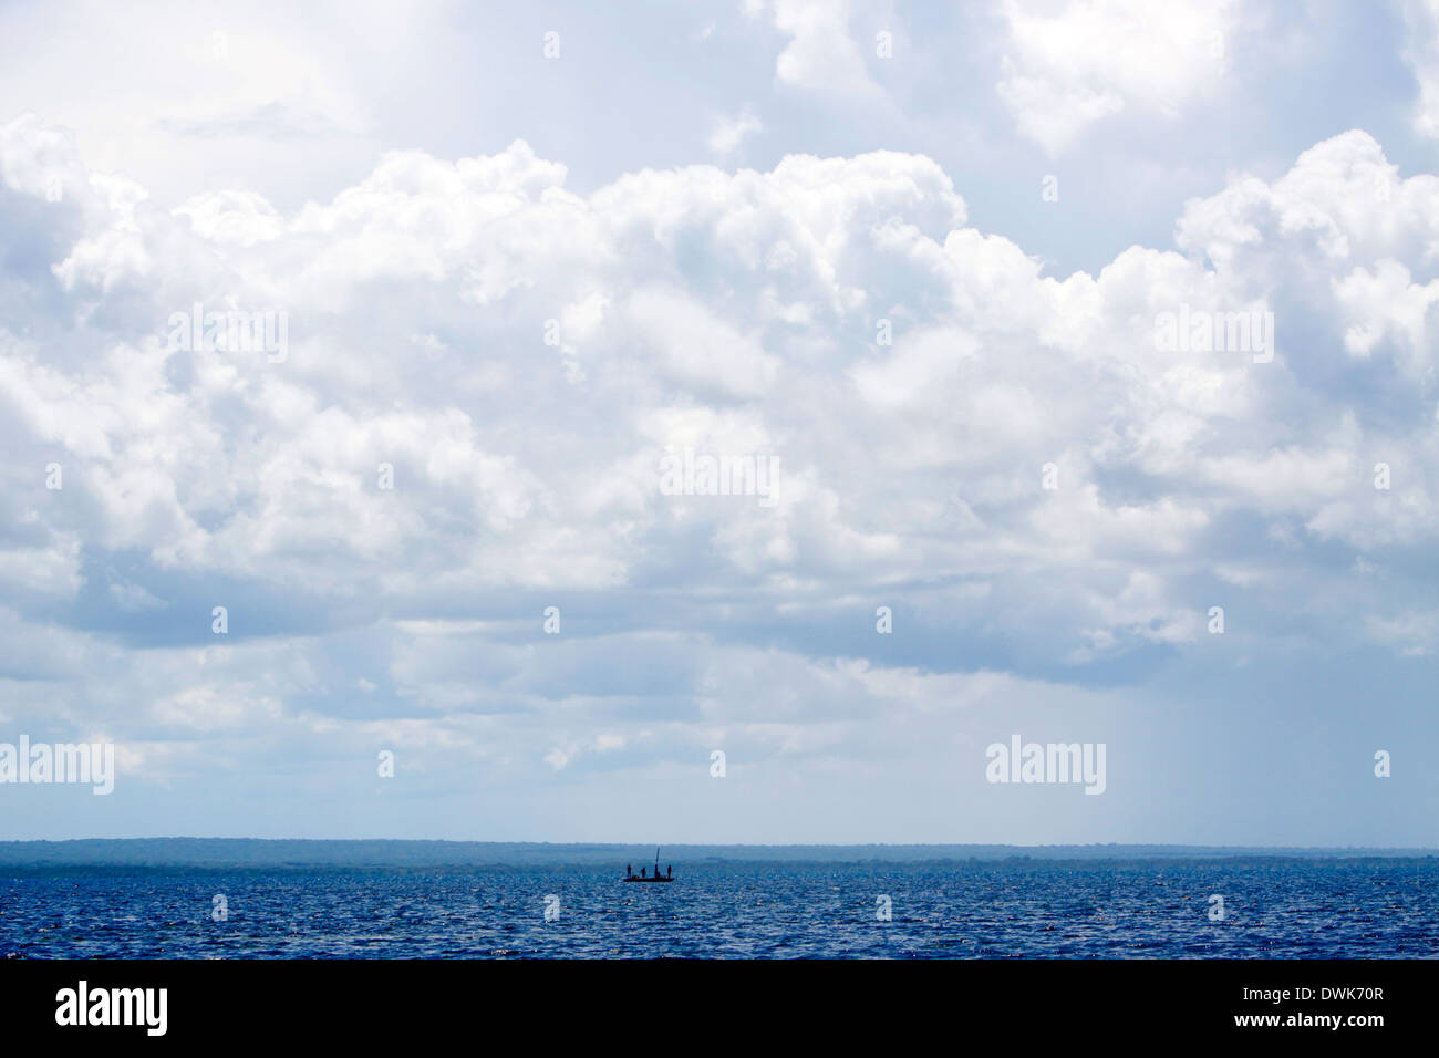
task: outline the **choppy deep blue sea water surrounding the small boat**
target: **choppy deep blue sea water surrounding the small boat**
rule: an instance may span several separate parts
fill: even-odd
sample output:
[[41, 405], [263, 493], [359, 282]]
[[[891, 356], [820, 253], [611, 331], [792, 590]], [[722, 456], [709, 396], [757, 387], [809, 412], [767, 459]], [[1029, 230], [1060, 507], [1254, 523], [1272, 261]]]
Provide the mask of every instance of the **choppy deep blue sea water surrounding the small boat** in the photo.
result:
[[[623, 867], [623, 865], [619, 865]], [[637, 865], [636, 865], [637, 869]], [[1435, 957], [1439, 861], [7, 869], [4, 957]], [[227, 918], [212, 915], [223, 894]], [[1225, 918], [1209, 917], [1210, 895]], [[547, 904], [558, 917], [545, 920]], [[889, 898], [889, 921], [876, 913]]]

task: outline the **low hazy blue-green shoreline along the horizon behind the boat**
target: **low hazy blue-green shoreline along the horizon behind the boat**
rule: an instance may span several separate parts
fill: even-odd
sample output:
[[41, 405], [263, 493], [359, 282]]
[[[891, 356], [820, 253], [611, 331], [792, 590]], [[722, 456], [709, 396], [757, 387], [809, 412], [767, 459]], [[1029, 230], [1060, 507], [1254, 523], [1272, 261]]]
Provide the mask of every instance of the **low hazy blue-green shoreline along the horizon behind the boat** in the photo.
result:
[[[0, 871], [46, 868], [439, 868], [648, 864], [655, 845], [268, 838], [79, 838], [0, 842]], [[1164, 865], [1216, 861], [1425, 861], [1425, 848], [1240, 845], [663, 845], [676, 865], [935, 864], [976, 867]]]

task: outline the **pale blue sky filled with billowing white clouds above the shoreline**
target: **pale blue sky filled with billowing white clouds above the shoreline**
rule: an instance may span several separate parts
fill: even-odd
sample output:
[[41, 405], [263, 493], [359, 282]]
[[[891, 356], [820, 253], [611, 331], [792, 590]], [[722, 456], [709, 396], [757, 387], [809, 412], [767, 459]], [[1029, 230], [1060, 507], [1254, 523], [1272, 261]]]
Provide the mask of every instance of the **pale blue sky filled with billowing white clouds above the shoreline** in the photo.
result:
[[1439, 846], [1439, 0], [0, 56], [0, 839]]

